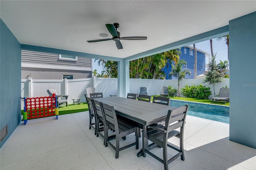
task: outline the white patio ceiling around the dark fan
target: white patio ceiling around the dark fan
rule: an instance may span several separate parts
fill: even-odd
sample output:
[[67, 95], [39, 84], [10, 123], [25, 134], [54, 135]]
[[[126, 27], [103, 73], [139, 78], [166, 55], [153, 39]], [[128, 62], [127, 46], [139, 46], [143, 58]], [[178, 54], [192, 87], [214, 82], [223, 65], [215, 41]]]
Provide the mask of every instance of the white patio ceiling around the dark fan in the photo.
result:
[[[228, 25], [256, 11], [256, 1], [0, 1], [0, 17], [22, 44], [125, 58]], [[117, 49], [105, 24], [119, 23]]]

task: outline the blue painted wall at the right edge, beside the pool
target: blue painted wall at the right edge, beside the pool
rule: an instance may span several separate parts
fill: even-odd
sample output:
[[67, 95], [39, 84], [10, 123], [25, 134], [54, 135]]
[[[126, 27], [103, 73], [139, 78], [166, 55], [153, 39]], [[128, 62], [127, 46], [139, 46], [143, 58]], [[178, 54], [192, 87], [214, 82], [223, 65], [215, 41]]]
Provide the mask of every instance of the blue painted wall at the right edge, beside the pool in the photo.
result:
[[256, 12], [229, 22], [230, 140], [256, 148]]

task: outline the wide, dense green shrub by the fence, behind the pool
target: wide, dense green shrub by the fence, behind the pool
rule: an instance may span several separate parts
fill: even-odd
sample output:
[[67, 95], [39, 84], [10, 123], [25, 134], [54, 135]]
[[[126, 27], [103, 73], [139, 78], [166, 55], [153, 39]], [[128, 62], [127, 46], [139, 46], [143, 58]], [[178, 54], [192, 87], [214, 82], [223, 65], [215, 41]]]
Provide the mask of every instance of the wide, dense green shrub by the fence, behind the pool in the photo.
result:
[[210, 87], [205, 87], [203, 85], [185, 85], [185, 87], [181, 89], [181, 94], [190, 98], [208, 99], [212, 92], [210, 91]]

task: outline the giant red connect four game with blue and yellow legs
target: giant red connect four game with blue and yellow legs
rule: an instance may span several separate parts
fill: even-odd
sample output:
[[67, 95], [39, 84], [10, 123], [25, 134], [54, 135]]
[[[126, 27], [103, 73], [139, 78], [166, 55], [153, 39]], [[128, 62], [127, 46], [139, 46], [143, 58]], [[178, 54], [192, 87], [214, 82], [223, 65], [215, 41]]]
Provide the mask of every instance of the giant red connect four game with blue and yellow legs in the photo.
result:
[[58, 119], [58, 107], [55, 94], [48, 97], [32, 97], [24, 99], [23, 120], [26, 125], [28, 119], [56, 116]]

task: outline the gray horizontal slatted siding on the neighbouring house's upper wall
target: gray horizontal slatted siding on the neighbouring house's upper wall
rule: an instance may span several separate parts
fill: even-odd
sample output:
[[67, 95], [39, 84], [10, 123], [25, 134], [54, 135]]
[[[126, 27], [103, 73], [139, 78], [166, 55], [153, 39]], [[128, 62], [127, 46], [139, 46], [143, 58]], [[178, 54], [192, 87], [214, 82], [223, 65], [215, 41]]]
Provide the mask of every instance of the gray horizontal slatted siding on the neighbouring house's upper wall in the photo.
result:
[[92, 67], [92, 59], [78, 57], [78, 61], [59, 60], [58, 54], [21, 50], [22, 63], [37, 63], [63, 66]]

